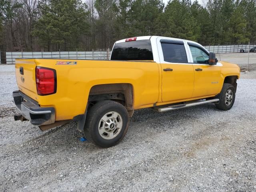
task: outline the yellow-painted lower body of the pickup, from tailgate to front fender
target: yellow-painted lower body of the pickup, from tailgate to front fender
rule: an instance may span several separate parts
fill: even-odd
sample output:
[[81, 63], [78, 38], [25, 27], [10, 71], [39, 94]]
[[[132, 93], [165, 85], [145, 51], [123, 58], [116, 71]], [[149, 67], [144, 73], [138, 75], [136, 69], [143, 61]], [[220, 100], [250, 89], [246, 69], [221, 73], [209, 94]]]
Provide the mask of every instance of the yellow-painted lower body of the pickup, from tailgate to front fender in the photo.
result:
[[[238, 67], [234, 64], [222, 62], [221, 76], [212, 71], [203, 76], [186, 73], [186, 68], [198, 66], [178, 65], [170, 66], [176, 69], [172, 76], [161, 74], [164, 65], [150, 61], [111, 61], [111, 60], [75, 60], [76, 65], [56, 65], [57, 62], [69, 61], [60, 59], [17, 59], [16, 79], [21, 92], [37, 101], [41, 107], [52, 106], [56, 110], [56, 121], [69, 120], [79, 114], [84, 114], [90, 89], [100, 84], [127, 83], [134, 91], [134, 109], [184, 102], [218, 94], [226, 76], [236, 75], [239, 78]], [[24, 82], [19, 72], [24, 67]], [[47, 67], [57, 72], [57, 92], [40, 96], [36, 93], [35, 67]], [[216, 69], [216, 66], [214, 66]], [[213, 68], [213, 67], [212, 67]], [[189, 70], [191, 71], [191, 70]], [[213, 84], [211, 92], [206, 86], [212, 76], [220, 77], [220, 82]], [[162, 77], [162, 80], [161, 80]], [[193, 87], [194, 80], [200, 81]], [[208, 80], [210, 79], [210, 81]], [[168, 82], [172, 82], [169, 84]], [[164, 88], [164, 90], [162, 90]], [[184, 91], [186, 90], [186, 91]]]

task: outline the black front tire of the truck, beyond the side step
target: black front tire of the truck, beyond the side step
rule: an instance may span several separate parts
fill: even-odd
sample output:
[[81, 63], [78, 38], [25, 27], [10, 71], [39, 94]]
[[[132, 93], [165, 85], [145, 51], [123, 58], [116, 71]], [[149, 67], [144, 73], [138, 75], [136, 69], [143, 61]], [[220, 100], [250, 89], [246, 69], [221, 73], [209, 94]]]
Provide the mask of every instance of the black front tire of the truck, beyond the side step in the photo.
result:
[[[232, 100], [229, 100], [229, 99], [225, 100], [226, 97], [228, 97], [228, 96], [226, 96], [226, 93], [228, 91], [231, 91], [231, 93], [232, 93]], [[230, 94], [228, 94], [228, 95], [230, 95]], [[230, 110], [234, 104], [235, 98], [236, 98], [236, 92], [235, 92], [234, 86], [229, 83], [224, 83], [222, 90], [220, 92], [220, 95], [219, 95], [220, 102], [215, 105], [220, 110], [224, 110], [224, 111]]]

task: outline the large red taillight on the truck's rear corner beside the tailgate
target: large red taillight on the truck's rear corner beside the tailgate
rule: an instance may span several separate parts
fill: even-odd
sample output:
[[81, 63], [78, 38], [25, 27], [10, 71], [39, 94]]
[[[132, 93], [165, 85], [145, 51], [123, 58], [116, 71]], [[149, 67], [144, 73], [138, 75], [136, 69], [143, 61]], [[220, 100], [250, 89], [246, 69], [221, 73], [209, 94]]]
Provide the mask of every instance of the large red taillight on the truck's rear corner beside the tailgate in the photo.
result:
[[36, 67], [36, 90], [38, 95], [56, 93], [56, 71], [54, 69]]

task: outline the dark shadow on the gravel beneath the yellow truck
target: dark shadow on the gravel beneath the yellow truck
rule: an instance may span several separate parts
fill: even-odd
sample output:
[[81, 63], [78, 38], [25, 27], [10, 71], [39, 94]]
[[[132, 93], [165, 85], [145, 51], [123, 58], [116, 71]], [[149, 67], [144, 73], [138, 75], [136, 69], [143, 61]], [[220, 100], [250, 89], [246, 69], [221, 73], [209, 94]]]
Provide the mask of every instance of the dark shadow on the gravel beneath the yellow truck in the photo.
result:
[[[207, 113], [206, 113], [207, 111]], [[156, 112], [150, 108], [136, 110], [134, 116], [130, 119], [130, 126], [128, 128], [128, 135], [124, 138], [127, 142], [130, 137], [135, 136], [136, 138], [147, 139], [147, 132], [151, 135], [159, 134], [162, 131], [175, 129], [176, 126], [182, 125], [183, 122], [194, 121], [195, 119], [200, 119], [200, 117], [211, 116], [211, 114], [220, 112], [214, 106], [214, 104], [205, 104], [201, 106], [194, 106], [192, 108], [183, 108], [178, 110], [173, 110], [169, 112]], [[184, 125], [186, 128], [186, 125]], [[141, 129], [141, 132], [138, 132]], [[78, 145], [88, 147], [90, 151], [95, 149], [102, 149], [94, 146], [91, 142], [80, 141], [80, 138], [84, 135], [78, 130], [76, 130], [76, 122], [70, 122], [56, 128], [52, 128], [37, 136], [31, 140], [26, 141], [26, 143], [38, 141], [44, 143], [52, 144], [58, 146], [58, 148], [77, 147]], [[41, 140], [41, 141], [40, 141]]]

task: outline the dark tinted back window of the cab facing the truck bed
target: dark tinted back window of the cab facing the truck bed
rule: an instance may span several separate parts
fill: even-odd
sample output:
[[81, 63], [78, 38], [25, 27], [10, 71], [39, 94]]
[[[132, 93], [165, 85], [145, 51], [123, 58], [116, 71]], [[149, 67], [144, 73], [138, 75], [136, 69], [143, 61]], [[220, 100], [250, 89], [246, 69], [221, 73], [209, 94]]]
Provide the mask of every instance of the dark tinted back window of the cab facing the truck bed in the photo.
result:
[[114, 45], [110, 60], [153, 60], [150, 40], [129, 41]]

